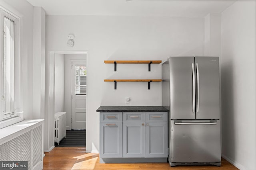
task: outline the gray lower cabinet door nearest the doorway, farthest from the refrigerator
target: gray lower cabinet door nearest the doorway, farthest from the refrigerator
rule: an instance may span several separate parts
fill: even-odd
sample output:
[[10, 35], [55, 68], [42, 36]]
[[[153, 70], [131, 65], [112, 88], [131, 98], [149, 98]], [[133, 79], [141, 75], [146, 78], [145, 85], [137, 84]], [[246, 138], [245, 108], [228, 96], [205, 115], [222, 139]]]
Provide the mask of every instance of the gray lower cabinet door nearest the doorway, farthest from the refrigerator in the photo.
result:
[[122, 158], [122, 122], [100, 122], [100, 157]]

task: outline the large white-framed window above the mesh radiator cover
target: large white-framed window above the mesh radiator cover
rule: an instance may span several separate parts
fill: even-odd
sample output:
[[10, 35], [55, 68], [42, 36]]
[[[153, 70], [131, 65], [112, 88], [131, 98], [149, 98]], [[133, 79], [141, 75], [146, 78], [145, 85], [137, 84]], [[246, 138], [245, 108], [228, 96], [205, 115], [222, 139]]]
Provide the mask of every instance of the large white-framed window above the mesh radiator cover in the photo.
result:
[[[0, 9], [0, 128], [21, 121], [18, 19]], [[3, 125], [4, 124], [4, 125]]]

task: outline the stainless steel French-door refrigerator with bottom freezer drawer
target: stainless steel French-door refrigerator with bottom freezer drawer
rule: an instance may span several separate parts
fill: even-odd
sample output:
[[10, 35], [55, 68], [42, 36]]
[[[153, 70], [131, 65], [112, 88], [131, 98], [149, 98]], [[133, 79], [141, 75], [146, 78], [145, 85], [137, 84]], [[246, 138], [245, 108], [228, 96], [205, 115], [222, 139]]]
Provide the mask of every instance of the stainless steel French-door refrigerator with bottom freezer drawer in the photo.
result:
[[169, 57], [162, 64], [170, 166], [221, 165], [219, 96], [218, 57]]

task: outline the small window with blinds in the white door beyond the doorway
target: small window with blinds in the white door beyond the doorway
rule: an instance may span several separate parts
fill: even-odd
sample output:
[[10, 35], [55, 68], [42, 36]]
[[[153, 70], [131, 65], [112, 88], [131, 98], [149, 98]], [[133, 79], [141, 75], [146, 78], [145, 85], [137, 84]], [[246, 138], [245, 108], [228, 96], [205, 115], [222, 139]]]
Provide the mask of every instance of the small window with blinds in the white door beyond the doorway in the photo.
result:
[[86, 95], [87, 70], [86, 66], [76, 66], [76, 95]]

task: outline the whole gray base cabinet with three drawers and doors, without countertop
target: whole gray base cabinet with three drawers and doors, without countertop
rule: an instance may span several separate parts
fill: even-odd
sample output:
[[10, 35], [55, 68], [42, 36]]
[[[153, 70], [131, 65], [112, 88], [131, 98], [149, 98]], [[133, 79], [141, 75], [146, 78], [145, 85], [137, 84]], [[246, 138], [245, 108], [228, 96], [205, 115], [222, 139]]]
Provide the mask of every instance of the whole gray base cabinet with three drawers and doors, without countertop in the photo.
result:
[[100, 162], [167, 162], [167, 121], [167, 112], [100, 112]]

